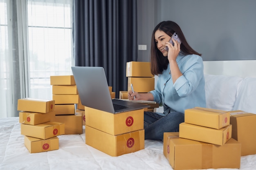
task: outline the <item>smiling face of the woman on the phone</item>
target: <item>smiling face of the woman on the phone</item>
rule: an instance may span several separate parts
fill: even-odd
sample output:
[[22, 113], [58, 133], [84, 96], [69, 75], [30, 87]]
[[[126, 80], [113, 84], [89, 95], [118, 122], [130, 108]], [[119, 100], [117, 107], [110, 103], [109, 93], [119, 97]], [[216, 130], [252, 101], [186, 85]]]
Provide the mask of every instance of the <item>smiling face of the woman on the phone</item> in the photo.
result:
[[167, 35], [164, 31], [157, 30], [155, 31], [155, 42], [157, 44], [157, 49], [159, 49], [164, 57], [168, 55], [168, 51], [165, 51], [165, 44], [171, 39], [169, 35]]

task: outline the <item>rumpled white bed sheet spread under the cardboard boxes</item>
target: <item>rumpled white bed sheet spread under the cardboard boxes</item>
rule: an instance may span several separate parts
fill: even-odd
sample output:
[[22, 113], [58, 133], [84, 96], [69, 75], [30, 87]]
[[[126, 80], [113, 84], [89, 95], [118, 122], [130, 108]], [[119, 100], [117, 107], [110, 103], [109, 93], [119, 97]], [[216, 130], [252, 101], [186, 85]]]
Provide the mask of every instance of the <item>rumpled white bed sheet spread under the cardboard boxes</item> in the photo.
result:
[[[162, 141], [145, 140], [145, 149], [111, 157], [85, 144], [84, 128], [81, 135], [58, 137], [58, 150], [31, 154], [20, 135], [18, 117], [1, 118], [0, 170], [173, 170]], [[240, 170], [256, 170], [256, 155], [241, 157]]]

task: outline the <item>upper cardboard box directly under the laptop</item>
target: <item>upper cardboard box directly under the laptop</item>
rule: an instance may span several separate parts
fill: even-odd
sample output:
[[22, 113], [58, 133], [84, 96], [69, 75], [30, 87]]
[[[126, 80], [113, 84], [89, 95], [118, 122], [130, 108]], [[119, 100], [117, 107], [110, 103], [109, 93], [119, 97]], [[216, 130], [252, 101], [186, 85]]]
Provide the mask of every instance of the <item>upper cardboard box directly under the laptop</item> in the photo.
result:
[[85, 106], [85, 119], [85, 125], [110, 135], [144, 129], [144, 109], [113, 114]]

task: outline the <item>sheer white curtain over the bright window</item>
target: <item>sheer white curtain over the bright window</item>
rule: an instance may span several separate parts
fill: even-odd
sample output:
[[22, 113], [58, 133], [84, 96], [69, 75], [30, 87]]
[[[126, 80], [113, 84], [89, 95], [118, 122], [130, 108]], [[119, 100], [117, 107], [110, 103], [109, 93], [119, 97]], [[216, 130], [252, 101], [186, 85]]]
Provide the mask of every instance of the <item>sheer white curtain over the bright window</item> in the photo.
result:
[[71, 75], [72, 0], [0, 0], [0, 117], [20, 98], [52, 99], [51, 75]]

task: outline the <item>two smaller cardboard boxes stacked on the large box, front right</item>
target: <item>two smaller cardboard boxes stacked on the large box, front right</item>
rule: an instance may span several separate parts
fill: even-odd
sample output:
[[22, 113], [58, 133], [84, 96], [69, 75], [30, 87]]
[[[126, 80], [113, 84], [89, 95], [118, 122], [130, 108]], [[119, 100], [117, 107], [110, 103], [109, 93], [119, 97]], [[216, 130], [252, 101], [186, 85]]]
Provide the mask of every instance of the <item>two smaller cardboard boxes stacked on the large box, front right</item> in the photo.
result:
[[230, 112], [195, 107], [185, 110], [180, 137], [223, 145], [231, 138]]

